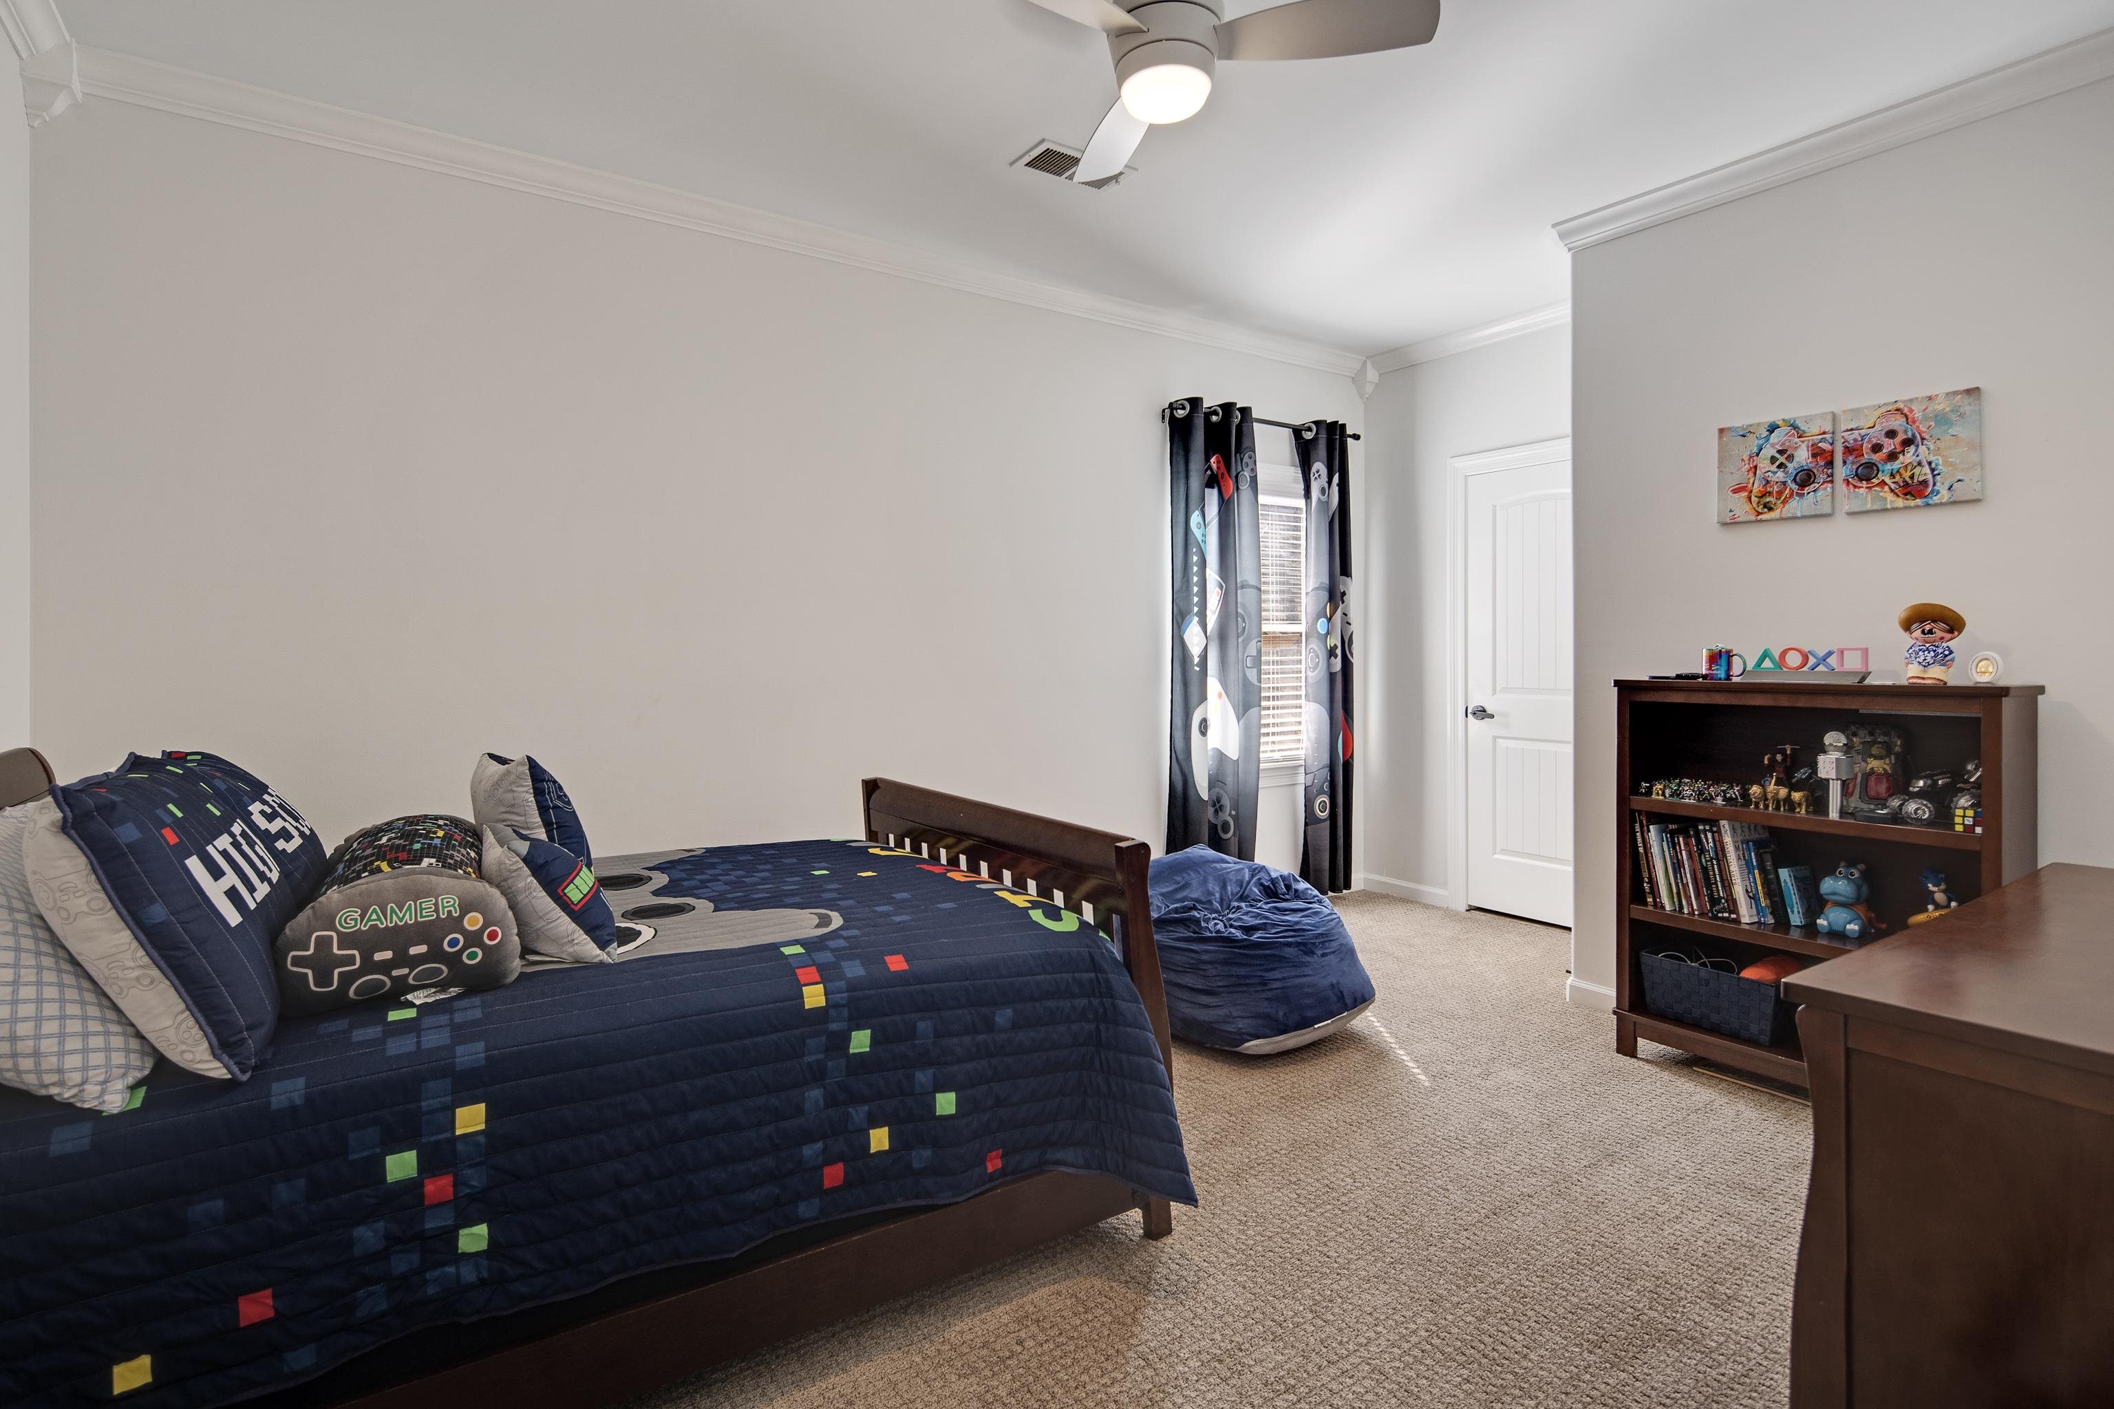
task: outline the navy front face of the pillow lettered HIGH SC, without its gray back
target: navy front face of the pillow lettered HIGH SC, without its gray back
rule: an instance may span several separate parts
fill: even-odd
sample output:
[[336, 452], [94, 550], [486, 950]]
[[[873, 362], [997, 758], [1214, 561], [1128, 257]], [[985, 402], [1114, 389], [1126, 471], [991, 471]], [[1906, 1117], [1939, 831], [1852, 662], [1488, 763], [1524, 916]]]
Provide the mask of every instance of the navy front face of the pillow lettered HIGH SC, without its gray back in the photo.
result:
[[228, 1075], [279, 1022], [273, 942], [323, 879], [323, 843], [285, 799], [214, 754], [131, 754], [51, 790], [110, 906], [197, 1018]]

